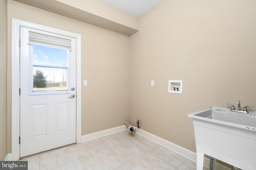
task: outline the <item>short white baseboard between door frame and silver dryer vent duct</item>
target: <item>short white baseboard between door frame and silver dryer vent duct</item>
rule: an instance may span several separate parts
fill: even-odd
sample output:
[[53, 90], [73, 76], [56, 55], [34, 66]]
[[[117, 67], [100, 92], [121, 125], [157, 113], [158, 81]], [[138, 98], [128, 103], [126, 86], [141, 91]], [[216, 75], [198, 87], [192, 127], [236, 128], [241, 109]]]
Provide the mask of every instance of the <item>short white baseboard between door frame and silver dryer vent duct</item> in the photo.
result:
[[107, 136], [107, 135], [112, 135], [114, 133], [118, 133], [118, 132], [122, 132], [122, 131], [126, 131], [126, 130], [127, 130], [126, 125], [122, 125], [122, 126], [106, 129], [106, 130], [103, 130], [103, 131], [98, 131], [98, 132], [95, 132], [95, 133], [82, 135], [81, 142], [83, 143], [83, 142], [86, 142], [86, 141], [91, 141], [93, 139], [97, 139], [97, 138], [104, 137], [104, 136]]

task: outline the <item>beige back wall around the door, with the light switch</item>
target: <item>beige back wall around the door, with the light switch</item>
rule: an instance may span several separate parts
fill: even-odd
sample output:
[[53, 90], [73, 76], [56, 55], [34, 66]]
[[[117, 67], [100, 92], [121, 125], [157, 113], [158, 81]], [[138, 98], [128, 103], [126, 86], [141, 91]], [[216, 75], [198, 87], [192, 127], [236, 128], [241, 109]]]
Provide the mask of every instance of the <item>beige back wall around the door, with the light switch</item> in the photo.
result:
[[[82, 35], [82, 80], [88, 80], [88, 86], [82, 86], [82, 135], [124, 124], [129, 109], [128, 36], [8, 0], [8, 30], [12, 18]], [[11, 31], [8, 41], [8, 84], [11, 84]], [[10, 97], [7, 106], [10, 153]]]

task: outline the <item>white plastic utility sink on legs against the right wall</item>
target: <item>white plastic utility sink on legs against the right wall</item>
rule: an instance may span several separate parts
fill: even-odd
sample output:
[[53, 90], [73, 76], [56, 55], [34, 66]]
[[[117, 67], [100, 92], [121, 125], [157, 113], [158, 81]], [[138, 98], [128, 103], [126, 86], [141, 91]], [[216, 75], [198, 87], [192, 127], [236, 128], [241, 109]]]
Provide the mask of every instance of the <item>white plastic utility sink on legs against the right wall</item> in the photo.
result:
[[243, 170], [256, 170], [255, 111], [210, 107], [188, 117], [194, 124], [197, 170], [203, 169], [204, 154]]

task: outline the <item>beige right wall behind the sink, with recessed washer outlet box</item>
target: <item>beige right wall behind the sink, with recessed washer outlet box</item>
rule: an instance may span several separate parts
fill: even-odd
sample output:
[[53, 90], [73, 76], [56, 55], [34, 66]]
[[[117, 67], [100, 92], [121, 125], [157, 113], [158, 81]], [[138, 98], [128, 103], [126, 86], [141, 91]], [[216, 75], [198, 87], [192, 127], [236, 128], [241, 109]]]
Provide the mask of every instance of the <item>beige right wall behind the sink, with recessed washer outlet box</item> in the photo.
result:
[[[195, 151], [188, 113], [237, 100], [255, 110], [255, 6], [164, 0], [140, 17], [140, 31], [130, 36], [130, 120]], [[183, 80], [183, 94], [168, 93], [168, 80]]]

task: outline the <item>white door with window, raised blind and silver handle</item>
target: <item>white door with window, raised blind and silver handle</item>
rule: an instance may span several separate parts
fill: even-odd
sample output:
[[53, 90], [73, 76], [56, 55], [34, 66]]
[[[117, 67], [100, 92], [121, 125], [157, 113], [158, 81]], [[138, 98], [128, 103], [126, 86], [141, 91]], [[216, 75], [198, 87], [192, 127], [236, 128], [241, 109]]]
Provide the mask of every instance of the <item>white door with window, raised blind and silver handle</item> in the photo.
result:
[[20, 27], [20, 157], [76, 143], [76, 39]]

